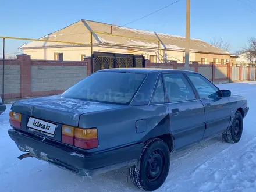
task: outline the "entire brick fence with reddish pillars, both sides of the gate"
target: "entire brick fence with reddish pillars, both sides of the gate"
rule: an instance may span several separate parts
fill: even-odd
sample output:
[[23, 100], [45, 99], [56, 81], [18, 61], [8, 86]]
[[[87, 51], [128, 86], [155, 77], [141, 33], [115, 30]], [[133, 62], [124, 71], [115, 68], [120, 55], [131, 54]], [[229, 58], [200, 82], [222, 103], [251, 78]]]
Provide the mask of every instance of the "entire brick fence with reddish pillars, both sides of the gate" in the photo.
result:
[[[73, 84], [91, 74], [91, 58], [84, 61], [31, 60], [29, 55], [5, 60], [5, 98], [26, 98], [61, 94]], [[94, 63], [93, 63], [94, 65]], [[145, 67], [157, 63], [145, 61]], [[159, 63], [160, 68], [183, 69], [184, 63], [176, 61]], [[256, 79], [256, 67], [208, 65], [194, 62], [190, 70], [199, 72], [215, 84]], [[0, 95], [2, 96], [2, 60], [0, 60]]]

